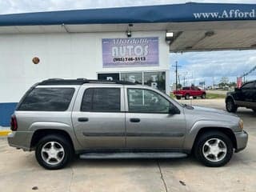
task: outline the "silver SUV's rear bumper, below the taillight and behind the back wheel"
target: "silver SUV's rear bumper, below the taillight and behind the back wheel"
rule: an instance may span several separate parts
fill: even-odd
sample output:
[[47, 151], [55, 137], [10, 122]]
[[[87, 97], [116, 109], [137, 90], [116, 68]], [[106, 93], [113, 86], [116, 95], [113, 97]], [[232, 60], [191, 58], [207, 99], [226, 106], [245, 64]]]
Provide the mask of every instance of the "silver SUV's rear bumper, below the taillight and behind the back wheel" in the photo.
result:
[[30, 150], [30, 142], [33, 132], [31, 131], [13, 131], [8, 134], [9, 146], [21, 148], [22, 150]]

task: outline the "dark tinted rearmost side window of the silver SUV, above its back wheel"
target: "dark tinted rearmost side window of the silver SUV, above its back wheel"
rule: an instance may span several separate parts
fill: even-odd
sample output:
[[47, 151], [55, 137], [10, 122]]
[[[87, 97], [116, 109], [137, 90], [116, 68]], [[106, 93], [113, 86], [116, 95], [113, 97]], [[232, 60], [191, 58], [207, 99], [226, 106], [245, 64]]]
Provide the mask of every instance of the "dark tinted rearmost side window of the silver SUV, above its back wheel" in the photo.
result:
[[18, 110], [65, 111], [70, 106], [74, 88], [35, 88]]

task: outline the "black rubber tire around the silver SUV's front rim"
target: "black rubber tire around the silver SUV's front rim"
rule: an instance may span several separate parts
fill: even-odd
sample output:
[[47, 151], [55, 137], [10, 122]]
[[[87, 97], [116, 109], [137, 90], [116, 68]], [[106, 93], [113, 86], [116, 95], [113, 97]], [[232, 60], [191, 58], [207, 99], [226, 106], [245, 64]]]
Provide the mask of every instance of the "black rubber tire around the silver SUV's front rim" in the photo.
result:
[[[205, 145], [206, 142], [214, 141], [214, 139], [218, 139], [224, 142], [226, 145], [226, 154], [225, 152], [220, 152], [219, 154], [223, 153], [221, 156], [222, 158], [220, 158], [219, 161], [216, 160], [216, 162], [213, 162], [207, 159], [203, 153], [203, 150], [205, 150], [207, 147], [207, 145]], [[222, 144], [222, 142], [220, 142], [220, 144]], [[198, 140], [195, 142], [195, 145], [194, 145], [195, 157], [198, 159], [199, 162], [202, 162], [202, 164], [204, 164], [205, 166], [211, 166], [211, 167], [224, 166], [226, 165], [227, 162], [230, 162], [230, 159], [232, 158], [233, 153], [234, 153], [234, 149], [233, 149], [232, 141], [226, 134], [223, 134], [222, 132], [219, 132], [219, 131], [210, 131], [210, 132], [206, 132], [205, 134], [202, 134], [201, 136], [199, 136]], [[211, 158], [210, 155], [207, 157]]]

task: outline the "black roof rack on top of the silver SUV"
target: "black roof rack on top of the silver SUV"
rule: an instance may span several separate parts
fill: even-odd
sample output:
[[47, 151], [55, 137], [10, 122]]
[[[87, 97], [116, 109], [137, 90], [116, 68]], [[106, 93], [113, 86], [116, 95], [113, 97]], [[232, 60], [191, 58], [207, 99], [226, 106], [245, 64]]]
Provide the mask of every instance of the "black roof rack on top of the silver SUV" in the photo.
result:
[[121, 85], [136, 85], [134, 82], [126, 81], [108, 81], [108, 80], [91, 80], [86, 78], [64, 79], [64, 78], [49, 78], [38, 83], [38, 86], [56, 86], [56, 85], [83, 85], [86, 83], [102, 83], [102, 84], [121, 84]]

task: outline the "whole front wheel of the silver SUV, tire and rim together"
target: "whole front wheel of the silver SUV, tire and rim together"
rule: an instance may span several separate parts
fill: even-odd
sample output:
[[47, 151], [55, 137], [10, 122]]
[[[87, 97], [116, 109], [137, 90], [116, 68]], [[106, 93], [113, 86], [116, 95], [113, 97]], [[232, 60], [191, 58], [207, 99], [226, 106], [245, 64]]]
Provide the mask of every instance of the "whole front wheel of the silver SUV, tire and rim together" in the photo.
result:
[[208, 132], [198, 138], [194, 155], [205, 166], [224, 166], [232, 158], [233, 143], [222, 132]]

